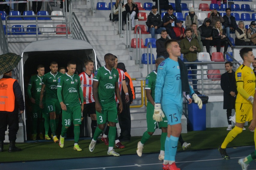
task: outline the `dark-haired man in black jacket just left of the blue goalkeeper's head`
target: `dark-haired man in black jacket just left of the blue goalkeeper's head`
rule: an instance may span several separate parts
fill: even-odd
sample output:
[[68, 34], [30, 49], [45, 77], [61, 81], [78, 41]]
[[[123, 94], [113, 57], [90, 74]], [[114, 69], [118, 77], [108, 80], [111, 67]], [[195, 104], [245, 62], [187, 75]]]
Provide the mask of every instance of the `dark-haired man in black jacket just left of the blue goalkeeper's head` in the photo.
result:
[[164, 43], [169, 40], [169, 38], [167, 37], [167, 31], [166, 30], [163, 30], [161, 32], [161, 38], [159, 38], [157, 41], [156, 41], [156, 46], [157, 46], [157, 58], [159, 57], [163, 57], [163, 58], [168, 58], [169, 57], [169, 54], [168, 52], [166, 51], [166, 48], [164, 46]]

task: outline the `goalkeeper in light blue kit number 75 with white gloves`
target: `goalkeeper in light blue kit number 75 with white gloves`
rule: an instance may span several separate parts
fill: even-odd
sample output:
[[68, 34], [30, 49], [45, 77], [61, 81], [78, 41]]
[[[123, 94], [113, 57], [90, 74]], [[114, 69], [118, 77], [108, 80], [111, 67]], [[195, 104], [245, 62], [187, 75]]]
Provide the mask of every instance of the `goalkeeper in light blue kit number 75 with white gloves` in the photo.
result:
[[178, 59], [178, 56], [181, 55], [178, 42], [168, 40], [165, 42], [165, 48], [169, 58], [164, 60], [157, 69], [153, 119], [160, 122], [166, 115], [168, 120], [163, 169], [180, 170], [176, 167], [175, 155], [181, 134], [182, 92], [190, 93], [200, 109], [202, 109], [203, 104], [188, 84], [186, 66]]

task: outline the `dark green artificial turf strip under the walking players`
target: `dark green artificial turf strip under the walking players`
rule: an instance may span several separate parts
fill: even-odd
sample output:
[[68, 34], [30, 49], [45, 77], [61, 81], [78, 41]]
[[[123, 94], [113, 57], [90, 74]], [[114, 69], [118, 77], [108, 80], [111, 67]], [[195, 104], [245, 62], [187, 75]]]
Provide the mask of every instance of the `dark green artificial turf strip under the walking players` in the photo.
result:
[[[236, 139], [234, 139], [228, 147], [249, 146], [254, 145], [254, 133], [245, 127]], [[224, 128], [206, 128], [205, 131], [188, 131], [182, 134], [185, 142], [191, 143], [190, 150], [212, 149], [217, 148], [225, 139], [229, 131]], [[121, 156], [125, 154], [136, 154], [137, 143], [141, 136], [132, 137], [130, 142], [123, 142], [125, 148], [115, 149]], [[31, 160], [51, 160], [51, 159], [67, 159], [67, 158], [85, 158], [85, 157], [99, 157], [107, 156], [108, 146], [101, 141], [96, 144], [93, 152], [90, 152], [88, 146], [89, 139], [79, 141], [80, 148], [83, 151], [74, 151], [74, 141], [66, 140], [64, 148], [60, 148], [58, 143], [53, 141], [35, 142], [35, 143], [18, 143], [17, 147], [22, 148], [20, 152], [9, 153], [9, 145], [4, 145], [4, 152], [0, 153], [0, 163], [4, 162], [25, 162]], [[182, 151], [181, 145], [178, 143], [178, 151]], [[159, 153], [160, 152], [160, 135], [151, 136], [146, 142], [143, 149], [143, 154]]]

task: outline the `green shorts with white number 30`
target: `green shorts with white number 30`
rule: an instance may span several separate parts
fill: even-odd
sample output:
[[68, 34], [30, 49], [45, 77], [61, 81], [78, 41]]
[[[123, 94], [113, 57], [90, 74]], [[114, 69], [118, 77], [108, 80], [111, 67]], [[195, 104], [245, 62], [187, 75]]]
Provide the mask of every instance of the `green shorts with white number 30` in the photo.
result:
[[62, 126], [70, 127], [72, 124], [81, 125], [81, 106], [67, 107], [62, 110]]

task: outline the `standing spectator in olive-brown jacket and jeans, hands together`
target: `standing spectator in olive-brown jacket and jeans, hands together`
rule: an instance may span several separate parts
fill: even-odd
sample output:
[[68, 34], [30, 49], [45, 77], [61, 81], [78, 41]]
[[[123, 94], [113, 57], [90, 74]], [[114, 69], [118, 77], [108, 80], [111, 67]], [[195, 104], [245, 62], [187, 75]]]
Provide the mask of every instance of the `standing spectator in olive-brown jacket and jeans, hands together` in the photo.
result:
[[[197, 62], [197, 53], [201, 51], [201, 48], [196, 39], [192, 38], [192, 29], [187, 28], [185, 30], [186, 38], [180, 41], [181, 53], [183, 54], [183, 62]], [[197, 69], [197, 64], [186, 64], [187, 69]], [[197, 84], [197, 70], [192, 70], [192, 83]], [[193, 85], [193, 89], [196, 94], [200, 94], [197, 91], [197, 85]]]

